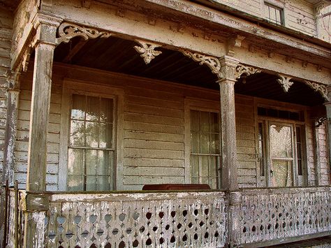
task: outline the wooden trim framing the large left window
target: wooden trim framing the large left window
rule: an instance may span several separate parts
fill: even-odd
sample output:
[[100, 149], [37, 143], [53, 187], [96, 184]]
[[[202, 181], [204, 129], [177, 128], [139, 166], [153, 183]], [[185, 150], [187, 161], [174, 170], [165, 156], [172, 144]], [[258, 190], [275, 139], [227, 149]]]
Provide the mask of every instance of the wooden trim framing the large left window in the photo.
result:
[[[105, 92], [110, 92], [105, 94]], [[124, 90], [113, 88], [106, 85], [98, 85], [83, 80], [65, 79], [62, 88], [61, 101], [61, 128], [59, 144], [59, 191], [68, 191], [68, 145], [69, 145], [69, 126], [70, 126], [70, 108], [73, 94], [84, 94], [87, 96], [100, 96], [114, 99], [115, 108], [115, 168], [113, 175], [113, 189], [123, 189], [123, 137], [124, 137]]]

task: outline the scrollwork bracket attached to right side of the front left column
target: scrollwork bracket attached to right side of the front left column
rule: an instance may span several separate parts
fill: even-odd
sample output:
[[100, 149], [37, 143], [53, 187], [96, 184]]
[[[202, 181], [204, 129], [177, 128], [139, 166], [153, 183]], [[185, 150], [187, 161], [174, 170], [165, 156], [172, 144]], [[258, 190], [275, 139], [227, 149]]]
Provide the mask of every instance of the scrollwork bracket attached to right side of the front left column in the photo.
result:
[[72, 38], [80, 36], [85, 40], [89, 38], [108, 38], [112, 34], [108, 31], [98, 31], [91, 27], [80, 27], [77, 24], [63, 22], [58, 28], [57, 44], [68, 43]]

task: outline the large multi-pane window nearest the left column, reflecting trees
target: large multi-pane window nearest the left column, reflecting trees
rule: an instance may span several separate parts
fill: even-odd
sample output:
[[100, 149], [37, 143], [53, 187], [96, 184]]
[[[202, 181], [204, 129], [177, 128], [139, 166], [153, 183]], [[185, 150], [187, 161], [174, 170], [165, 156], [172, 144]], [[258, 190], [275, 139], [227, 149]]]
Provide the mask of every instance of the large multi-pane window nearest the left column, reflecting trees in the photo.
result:
[[113, 189], [114, 99], [73, 94], [68, 140], [68, 190]]

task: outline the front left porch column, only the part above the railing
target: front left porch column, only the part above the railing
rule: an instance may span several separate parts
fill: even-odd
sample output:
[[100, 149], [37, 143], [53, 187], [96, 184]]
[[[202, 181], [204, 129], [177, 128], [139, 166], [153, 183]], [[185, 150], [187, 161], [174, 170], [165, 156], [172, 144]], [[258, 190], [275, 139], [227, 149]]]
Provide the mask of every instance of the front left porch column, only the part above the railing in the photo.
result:
[[[39, 24], [41, 40], [35, 46], [29, 127], [27, 191], [46, 190], [47, 127], [50, 113], [52, 65], [57, 27]], [[49, 37], [50, 36], [50, 37]], [[53, 43], [50, 38], [53, 38]], [[47, 38], [46, 41], [44, 38]], [[48, 41], [47, 41], [48, 40]]]

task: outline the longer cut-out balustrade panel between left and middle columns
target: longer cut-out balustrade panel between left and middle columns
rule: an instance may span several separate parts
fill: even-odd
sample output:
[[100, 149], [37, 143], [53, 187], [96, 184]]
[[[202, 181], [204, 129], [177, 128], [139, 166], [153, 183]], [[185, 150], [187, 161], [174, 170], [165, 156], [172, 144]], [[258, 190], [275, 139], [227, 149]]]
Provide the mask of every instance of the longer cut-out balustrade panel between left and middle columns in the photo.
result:
[[56, 194], [47, 247], [223, 247], [226, 200], [219, 192]]

